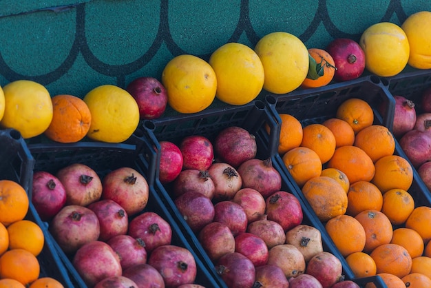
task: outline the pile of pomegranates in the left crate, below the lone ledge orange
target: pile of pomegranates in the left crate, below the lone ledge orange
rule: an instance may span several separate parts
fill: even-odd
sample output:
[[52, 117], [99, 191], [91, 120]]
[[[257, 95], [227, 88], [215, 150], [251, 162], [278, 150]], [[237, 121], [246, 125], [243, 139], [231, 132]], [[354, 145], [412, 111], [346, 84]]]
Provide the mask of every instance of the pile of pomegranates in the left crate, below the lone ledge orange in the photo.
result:
[[34, 207], [88, 287], [179, 287], [196, 280], [193, 254], [173, 244], [171, 225], [145, 209], [149, 199], [147, 180], [131, 167], [103, 178], [81, 163], [55, 175], [34, 172]]

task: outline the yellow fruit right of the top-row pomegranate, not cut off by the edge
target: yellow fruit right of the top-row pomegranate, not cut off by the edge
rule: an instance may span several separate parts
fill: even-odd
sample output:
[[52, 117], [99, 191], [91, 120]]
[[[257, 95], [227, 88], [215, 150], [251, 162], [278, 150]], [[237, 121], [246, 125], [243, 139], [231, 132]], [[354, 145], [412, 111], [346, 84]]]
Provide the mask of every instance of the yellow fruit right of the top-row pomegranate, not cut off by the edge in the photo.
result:
[[397, 24], [376, 23], [359, 40], [365, 53], [365, 67], [377, 76], [394, 76], [407, 65], [410, 46], [406, 33]]

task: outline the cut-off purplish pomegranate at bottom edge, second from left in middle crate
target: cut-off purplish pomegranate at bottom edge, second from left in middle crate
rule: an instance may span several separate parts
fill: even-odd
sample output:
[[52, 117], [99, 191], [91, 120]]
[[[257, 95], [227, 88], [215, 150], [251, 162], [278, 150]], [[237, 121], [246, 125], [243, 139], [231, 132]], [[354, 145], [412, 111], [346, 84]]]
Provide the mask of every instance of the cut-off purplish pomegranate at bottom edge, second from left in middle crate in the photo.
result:
[[288, 288], [289, 283], [283, 270], [275, 265], [266, 264], [256, 267], [255, 285], [253, 287], [264, 288]]

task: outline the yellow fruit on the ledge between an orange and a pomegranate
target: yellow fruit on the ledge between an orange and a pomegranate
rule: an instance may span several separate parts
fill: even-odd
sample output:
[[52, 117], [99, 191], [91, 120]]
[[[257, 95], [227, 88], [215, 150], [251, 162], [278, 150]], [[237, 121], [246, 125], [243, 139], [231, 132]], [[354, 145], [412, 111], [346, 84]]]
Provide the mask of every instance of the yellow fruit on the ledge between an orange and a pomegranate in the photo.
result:
[[120, 143], [138, 127], [138, 103], [122, 88], [101, 85], [88, 92], [83, 101], [92, 115], [87, 136], [93, 140]]

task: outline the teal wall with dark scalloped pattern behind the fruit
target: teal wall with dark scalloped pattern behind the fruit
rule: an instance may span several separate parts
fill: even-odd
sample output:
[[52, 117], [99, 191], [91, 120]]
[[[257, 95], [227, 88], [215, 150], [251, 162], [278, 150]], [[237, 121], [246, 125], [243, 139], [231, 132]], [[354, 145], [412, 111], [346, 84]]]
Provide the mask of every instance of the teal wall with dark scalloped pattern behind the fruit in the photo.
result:
[[254, 47], [275, 31], [324, 48], [338, 37], [359, 41], [380, 21], [401, 25], [421, 10], [431, 10], [431, 1], [3, 0], [0, 85], [30, 79], [52, 95], [83, 97], [97, 85], [160, 79], [178, 54], [207, 60], [224, 43]]

